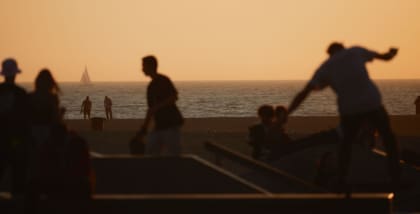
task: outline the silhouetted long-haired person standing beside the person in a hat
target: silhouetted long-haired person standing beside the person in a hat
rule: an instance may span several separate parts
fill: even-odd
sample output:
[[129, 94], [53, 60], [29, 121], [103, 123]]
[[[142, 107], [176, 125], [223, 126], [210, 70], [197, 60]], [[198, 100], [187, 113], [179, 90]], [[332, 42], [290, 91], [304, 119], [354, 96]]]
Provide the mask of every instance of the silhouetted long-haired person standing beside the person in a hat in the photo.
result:
[[59, 93], [51, 72], [41, 70], [35, 79], [35, 90], [29, 94], [32, 144], [28, 194], [31, 203], [28, 206], [31, 210], [38, 211], [41, 195], [46, 199], [72, 199], [60, 212], [76, 208], [80, 205], [77, 200], [90, 195], [86, 175], [90, 170], [87, 145], [64, 125]]

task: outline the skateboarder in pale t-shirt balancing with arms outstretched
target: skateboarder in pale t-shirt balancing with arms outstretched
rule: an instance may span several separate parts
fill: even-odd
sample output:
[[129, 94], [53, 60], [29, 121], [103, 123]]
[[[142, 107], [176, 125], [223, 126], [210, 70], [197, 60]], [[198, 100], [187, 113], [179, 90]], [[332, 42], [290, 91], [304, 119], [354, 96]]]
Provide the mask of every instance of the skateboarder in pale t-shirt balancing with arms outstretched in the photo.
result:
[[388, 113], [382, 104], [381, 94], [370, 79], [365, 65], [373, 59], [391, 60], [397, 51], [391, 48], [387, 53], [380, 54], [362, 47], [345, 48], [341, 43], [332, 43], [327, 49], [330, 57], [321, 64], [290, 104], [289, 114], [311, 91], [330, 86], [337, 94], [340, 127], [343, 130], [338, 151], [340, 191], [346, 191], [351, 144], [365, 123], [377, 129], [382, 137], [388, 154], [391, 179], [394, 187], [397, 187], [401, 174], [398, 145], [390, 127]]

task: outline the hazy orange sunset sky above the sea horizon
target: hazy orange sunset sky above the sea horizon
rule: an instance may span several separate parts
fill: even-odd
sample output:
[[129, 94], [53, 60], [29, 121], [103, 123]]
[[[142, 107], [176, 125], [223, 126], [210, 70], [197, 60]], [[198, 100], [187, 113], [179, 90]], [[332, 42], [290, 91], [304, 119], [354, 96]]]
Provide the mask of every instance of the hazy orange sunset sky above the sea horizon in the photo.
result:
[[141, 57], [173, 80], [308, 79], [331, 41], [380, 52], [376, 79], [420, 78], [419, 0], [0, 0], [0, 58], [33, 81], [145, 81]]

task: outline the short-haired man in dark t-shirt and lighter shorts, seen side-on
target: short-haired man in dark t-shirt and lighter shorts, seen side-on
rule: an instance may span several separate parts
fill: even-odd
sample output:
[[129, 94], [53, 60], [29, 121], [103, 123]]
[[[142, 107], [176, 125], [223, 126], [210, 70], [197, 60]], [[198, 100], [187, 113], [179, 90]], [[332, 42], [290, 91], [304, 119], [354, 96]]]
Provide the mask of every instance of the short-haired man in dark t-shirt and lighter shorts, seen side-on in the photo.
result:
[[149, 133], [146, 154], [159, 155], [167, 151], [169, 155], [181, 153], [180, 128], [184, 119], [176, 106], [178, 91], [172, 81], [158, 73], [158, 62], [154, 56], [142, 59], [143, 73], [152, 81], [147, 86], [147, 113], [138, 137], [147, 133], [150, 121], [154, 120], [154, 130]]

